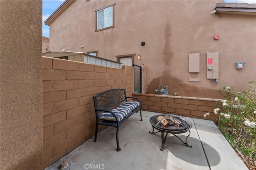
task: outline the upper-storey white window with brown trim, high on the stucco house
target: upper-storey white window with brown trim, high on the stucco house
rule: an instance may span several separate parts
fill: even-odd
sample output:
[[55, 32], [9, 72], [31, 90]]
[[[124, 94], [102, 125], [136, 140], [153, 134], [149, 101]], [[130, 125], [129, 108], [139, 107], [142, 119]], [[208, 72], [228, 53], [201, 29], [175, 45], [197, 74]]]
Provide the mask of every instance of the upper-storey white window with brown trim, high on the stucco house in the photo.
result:
[[95, 10], [96, 12], [96, 30], [95, 31], [105, 30], [105, 29], [114, 27], [114, 5], [115, 4], [111, 4], [109, 6], [105, 6], [98, 10]]

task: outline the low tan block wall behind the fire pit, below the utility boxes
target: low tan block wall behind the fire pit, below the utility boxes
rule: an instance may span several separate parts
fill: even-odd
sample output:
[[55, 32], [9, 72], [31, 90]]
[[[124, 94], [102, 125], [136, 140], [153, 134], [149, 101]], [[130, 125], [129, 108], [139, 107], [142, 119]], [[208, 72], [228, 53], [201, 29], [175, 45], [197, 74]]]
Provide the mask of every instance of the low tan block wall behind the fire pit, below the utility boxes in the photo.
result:
[[[212, 120], [216, 123], [214, 109], [220, 107], [221, 99], [166, 96], [151, 94], [134, 94], [142, 101], [142, 109], [157, 113], [170, 113], [178, 116]], [[204, 117], [209, 112], [210, 117]]]

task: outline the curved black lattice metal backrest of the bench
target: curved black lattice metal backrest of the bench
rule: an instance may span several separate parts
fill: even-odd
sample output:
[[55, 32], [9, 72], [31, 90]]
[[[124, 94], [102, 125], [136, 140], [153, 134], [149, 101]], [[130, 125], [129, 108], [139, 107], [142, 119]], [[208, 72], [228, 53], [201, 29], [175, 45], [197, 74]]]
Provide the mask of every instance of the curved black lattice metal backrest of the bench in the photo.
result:
[[125, 89], [111, 89], [93, 97], [95, 109], [106, 110], [127, 102]]

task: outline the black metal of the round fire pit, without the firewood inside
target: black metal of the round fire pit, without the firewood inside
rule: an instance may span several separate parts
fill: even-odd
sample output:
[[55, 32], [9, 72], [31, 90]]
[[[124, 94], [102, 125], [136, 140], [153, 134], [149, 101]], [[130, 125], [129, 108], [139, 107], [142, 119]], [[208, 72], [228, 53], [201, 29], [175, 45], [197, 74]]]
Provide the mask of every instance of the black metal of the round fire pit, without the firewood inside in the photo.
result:
[[[180, 124], [182, 126], [168, 126], [168, 127], [163, 127], [161, 125], [161, 121], [163, 119], [161, 119], [160, 121], [157, 121], [157, 118], [159, 116], [162, 116], [164, 119], [168, 118], [168, 117], [173, 117], [174, 119], [176, 120], [179, 120]], [[166, 140], [166, 137], [167, 137], [167, 134], [168, 133], [171, 133], [173, 134], [174, 136], [176, 136], [178, 139], [180, 139], [176, 134], [180, 134], [180, 133], [185, 133], [185, 132], [189, 132], [188, 136], [190, 136], [190, 129], [192, 128], [192, 123], [190, 121], [188, 121], [187, 119], [184, 119], [183, 117], [179, 117], [179, 116], [176, 116], [176, 115], [171, 115], [171, 114], [160, 114], [160, 115], [154, 115], [152, 116], [150, 119], [149, 119], [151, 125], [152, 125], [152, 128], [153, 128], [153, 131], [149, 133], [150, 134], [156, 134], [158, 132], [161, 132], [161, 138], [162, 138], [162, 145], [161, 145], [161, 148], [160, 150], [163, 150], [164, 149], [164, 143], [165, 143], [165, 140]], [[154, 132], [154, 129], [157, 129], [159, 131], [157, 132]], [[164, 132], [166, 132], [166, 135], [164, 137]], [[186, 137], [186, 140], [185, 142], [183, 142], [183, 140], [180, 139], [180, 141], [185, 144], [186, 146], [188, 147], [192, 147], [190, 146], [188, 143], [187, 143], [187, 138], [188, 136]]]

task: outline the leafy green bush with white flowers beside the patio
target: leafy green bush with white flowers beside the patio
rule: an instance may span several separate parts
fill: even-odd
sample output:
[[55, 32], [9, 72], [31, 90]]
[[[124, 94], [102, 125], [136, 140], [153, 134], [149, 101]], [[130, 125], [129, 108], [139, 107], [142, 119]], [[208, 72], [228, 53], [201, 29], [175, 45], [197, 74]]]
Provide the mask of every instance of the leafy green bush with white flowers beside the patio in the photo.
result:
[[222, 106], [213, 112], [218, 115], [217, 125], [226, 139], [242, 152], [248, 168], [256, 169], [256, 81], [249, 84], [246, 90], [238, 92], [229, 86], [218, 90], [223, 97]]

